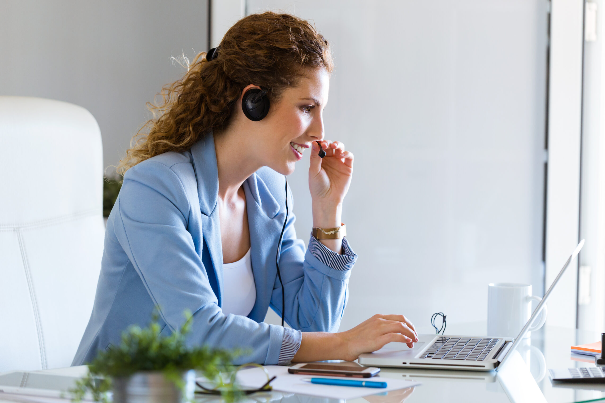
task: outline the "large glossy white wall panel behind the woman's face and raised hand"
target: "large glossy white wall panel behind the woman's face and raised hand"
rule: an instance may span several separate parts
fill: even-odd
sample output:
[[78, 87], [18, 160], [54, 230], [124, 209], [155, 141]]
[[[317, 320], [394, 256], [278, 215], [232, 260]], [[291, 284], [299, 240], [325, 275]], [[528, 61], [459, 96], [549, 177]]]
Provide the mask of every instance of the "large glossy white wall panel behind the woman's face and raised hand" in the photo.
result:
[[[492, 281], [543, 292], [547, 5], [248, 0], [333, 45], [326, 136], [355, 153], [343, 220], [359, 254], [341, 330], [377, 312], [486, 319]], [[303, 239], [307, 166], [289, 180]]]

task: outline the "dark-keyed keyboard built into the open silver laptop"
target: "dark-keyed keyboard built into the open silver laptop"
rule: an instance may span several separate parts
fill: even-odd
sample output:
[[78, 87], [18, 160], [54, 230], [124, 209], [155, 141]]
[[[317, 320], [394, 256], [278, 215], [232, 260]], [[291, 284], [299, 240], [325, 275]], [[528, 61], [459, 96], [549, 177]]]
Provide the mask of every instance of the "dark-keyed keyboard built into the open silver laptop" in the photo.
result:
[[441, 336], [419, 358], [483, 361], [499, 339]]

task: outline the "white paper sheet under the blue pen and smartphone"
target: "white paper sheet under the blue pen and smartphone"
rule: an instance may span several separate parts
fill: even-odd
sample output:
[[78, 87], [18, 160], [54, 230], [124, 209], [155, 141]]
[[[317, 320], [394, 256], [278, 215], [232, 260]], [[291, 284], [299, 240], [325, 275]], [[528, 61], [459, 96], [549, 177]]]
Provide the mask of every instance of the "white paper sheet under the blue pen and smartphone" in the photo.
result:
[[[288, 373], [288, 367], [282, 365], [267, 365], [265, 367], [269, 371], [270, 378], [277, 376], [271, 382], [273, 390], [286, 393], [300, 393], [301, 395], [320, 396], [322, 398], [332, 399], [355, 399], [363, 396], [376, 395], [376, 393], [390, 392], [408, 387], [420, 385], [420, 382], [391, 379], [374, 376], [371, 381], [387, 382], [386, 388], [365, 388], [352, 386], [335, 386], [335, 385], [316, 385], [310, 382], [301, 381], [302, 378], [331, 378], [330, 376], [316, 375], [298, 375]], [[267, 376], [258, 368], [241, 370], [238, 372], [238, 381], [244, 387], [261, 387], [267, 382]], [[370, 378], [368, 378], [370, 379]]]

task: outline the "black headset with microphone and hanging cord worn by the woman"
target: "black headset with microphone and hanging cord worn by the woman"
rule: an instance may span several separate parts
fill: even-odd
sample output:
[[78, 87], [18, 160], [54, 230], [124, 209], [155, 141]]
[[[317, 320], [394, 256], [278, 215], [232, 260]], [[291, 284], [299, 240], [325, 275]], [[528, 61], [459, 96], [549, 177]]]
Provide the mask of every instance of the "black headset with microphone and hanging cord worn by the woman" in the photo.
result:
[[[206, 60], [211, 62], [218, 56], [219, 48], [212, 48], [206, 53]], [[269, 114], [269, 107], [271, 103], [269, 97], [267, 97], [267, 90], [259, 90], [258, 88], [250, 88], [244, 93], [241, 99], [241, 110], [244, 115], [252, 122], [258, 122], [263, 120], [267, 114]], [[319, 145], [319, 158], [325, 157], [325, 151], [321, 147], [321, 142], [316, 141]], [[281, 280], [280, 272], [280, 252], [281, 252], [281, 240], [284, 237], [284, 231], [286, 231], [286, 224], [288, 222], [288, 177], [286, 178], [286, 218], [284, 218], [284, 225], [281, 227], [280, 240], [277, 243], [277, 252], [275, 253], [275, 267], [277, 269], [277, 277], [280, 280], [281, 285], [281, 326], [284, 326], [284, 315], [286, 313], [286, 296], [284, 290], [284, 283]]]

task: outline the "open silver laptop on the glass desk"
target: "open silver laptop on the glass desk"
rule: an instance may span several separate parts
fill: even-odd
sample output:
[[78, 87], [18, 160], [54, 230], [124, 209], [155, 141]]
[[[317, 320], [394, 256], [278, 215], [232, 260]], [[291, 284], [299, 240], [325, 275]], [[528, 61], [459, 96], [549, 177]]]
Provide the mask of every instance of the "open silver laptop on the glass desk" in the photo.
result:
[[413, 349], [407, 347], [405, 343], [392, 342], [373, 353], [360, 355], [359, 364], [370, 367], [498, 370], [517, 349], [523, 336], [528, 332], [529, 327], [551, 296], [552, 289], [557, 285], [569, 264], [578, 256], [582, 246], [584, 246], [584, 240], [578, 243], [516, 338], [420, 334]]

